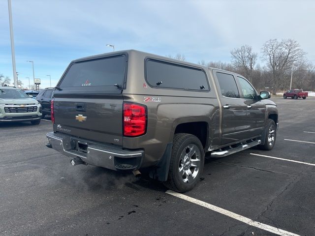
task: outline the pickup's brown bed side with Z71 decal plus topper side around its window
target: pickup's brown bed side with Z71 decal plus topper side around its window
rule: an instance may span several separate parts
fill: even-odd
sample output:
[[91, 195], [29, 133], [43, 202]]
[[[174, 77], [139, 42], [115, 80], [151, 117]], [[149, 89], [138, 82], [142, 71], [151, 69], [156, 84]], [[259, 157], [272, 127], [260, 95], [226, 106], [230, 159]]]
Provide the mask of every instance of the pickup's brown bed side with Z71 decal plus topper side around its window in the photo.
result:
[[[129, 53], [124, 102], [135, 102], [147, 106], [148, 122], [145, 135], [123, 138], [124, 148], [143, 148], [145, 159], [142, 167], [154, 165], [162, 157], [166, 145], [173, 142], [176, 126], [181, 123], [205, 121], [209, 127], [209, 145], [218, 145], [219, 140], [219, 102], [214, 84], [207, 74], [210, 91], [190, 91], [180, 89], [151, 88], [145, 80], [145, 59], [148, 54]], [[155, 59], [159, 59], [154, 56]], [[165, 60], [165, 58], [161, 58]], [[173, 62], [170, 60], [170, 62]], [[185, 65], [189, 63], [185, 62]], [[192, 64], [194, 67], [195, 65]], [[202, 68], [200, 66], [200, 68]], [[148, 97], [154, 97], [156, 102]], [[206, 148], [208, 148], [206, 147]]]

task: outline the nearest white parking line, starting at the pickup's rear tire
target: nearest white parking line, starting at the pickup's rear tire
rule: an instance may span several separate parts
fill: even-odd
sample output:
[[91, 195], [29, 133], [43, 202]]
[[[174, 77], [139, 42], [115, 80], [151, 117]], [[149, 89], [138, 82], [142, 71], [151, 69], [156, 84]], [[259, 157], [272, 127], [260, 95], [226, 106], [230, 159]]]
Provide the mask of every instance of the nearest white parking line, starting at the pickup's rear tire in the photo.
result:
[[266, 224], [263, 224], [263, 223], [260, 223], [260, 222], [257, 222], [257, 221], [253, 221], [250, 218], [247, 218], [247, 217], [244, 217], [242, 215], [236, 214], [234, 212], [225, 210], [225, 209], [223, 209], [221, 207], [216, 207], [214, 205], [211, 205], [209, 203], [200, 201], [198, 199], [194, 199], [194, 198], [188, 197], [188, 196], [186, 196], [184, 194], [174, 192], [172, 190], [167, 190], [166, 193], [170, 194], [170, 195], [172, 195], [174, 197], [184, 199], [184, 200], [186, 200], [188, 202], [197, 204], [199, 206], [206, 207], [208, 209], [214, 210], [214, 211], [216, 211], [218, 213], [221, 213], [223, 215], [226, 215], [226, 216], [231, 217], [233, 219], [236, 219], [238, 221], [244, 222], [245, 224], [248, 224], [248, 225], [251, 225], [253, 227], [256, 227], [256, 228], [259, 228], [259, 229], [262, 229], [262, 230], [265, 230], [265, 231], [268, 231], [268, 232], [271, 232], [271, 233], [274, 233], [276, 235], [281, 235], [281, 236], [299, 236], [299, 235], [296, 235], [296, 234], [284, 231], [282, 229], [278, 229], [276, 227], [272, 227], [270, 225], [266, 225]]

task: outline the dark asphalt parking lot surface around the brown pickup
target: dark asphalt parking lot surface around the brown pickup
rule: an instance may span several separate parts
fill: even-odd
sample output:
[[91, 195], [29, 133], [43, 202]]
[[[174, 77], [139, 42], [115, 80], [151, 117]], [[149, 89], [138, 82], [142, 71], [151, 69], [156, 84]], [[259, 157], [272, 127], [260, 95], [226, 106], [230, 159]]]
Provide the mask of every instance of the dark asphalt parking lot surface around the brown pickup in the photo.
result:
[[50, 121], [0, 124], [0, 235], [315, 235], [315, 97], [272, 100], [275, 148], [206, 160], [189, 201], [146, 177], [72, 167], [45, 147]]

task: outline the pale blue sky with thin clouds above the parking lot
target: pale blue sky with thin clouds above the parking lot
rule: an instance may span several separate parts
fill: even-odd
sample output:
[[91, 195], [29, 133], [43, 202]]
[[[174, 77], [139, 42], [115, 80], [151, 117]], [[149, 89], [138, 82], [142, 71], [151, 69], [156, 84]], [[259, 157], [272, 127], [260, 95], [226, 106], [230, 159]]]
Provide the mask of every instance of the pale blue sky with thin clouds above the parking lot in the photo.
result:
[[[0, 9], [0, 73], [13, 81], [7, 0]], [[71, 60], [112, 51], [106, 44], [229, 62], [233, 48], [261, 56], [273, 38], [297, 40], [315, 60], [314, 9], [312, 0], [12, 0], [16, 70], [27, 86], [33, 60], [44, 88], [46, 75], [55, 86]]]

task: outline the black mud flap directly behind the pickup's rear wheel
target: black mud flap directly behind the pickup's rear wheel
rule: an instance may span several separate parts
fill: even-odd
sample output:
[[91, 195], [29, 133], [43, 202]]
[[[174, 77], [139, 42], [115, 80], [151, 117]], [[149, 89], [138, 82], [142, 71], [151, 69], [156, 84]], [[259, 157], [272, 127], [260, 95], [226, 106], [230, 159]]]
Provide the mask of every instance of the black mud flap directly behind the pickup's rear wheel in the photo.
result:
[[159, 181], [167, 180], [169, 163], [171, 161], [172, 147], [173, 143], [168, 143], [166, 145], [162, 158], [158, 161], [158, 164], [155, 166], [155, 168], [149, 173], [151, 178]]

